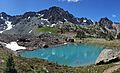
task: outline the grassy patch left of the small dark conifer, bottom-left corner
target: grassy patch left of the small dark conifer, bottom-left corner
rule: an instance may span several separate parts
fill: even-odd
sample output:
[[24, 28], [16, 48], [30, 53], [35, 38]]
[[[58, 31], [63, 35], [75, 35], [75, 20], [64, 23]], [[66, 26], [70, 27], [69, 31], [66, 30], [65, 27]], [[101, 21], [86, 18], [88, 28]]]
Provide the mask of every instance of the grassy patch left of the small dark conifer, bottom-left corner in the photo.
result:
[[11, 73], [10, 70], [13, 69], [11, 53], [11, 50], [0, 48], [0, 73]]

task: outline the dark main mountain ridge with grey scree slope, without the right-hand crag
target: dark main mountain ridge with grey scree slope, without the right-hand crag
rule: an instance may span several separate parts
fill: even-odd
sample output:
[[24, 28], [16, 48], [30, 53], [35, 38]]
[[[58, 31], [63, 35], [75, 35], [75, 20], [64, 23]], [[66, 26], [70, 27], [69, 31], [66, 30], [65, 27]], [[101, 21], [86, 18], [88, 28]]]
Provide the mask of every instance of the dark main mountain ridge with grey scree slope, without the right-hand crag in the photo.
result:
[[5, 31], [6, 34], [32, 34], [39, 26], [53, 26], [54, 24], [64, 24], [64, 22], [78, 25], [93, 23], [90, 19], [77, 18], [68, 11], [56, 6], [38, 12], [26, 12], [23, 15], [10, 16], [4, 12], [0, 15], [0, 31], [2, 33], [9, 28], [8, 31]]

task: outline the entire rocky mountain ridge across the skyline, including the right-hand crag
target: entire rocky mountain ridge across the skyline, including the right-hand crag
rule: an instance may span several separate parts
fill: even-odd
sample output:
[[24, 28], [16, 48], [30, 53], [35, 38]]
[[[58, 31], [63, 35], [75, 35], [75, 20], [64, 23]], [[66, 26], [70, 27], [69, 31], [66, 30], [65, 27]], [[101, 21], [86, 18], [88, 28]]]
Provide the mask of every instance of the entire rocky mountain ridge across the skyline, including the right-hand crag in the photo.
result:
[[[26, 12], [23, 15], [10, 16], [4, 12], [0, 13], [0, 33], [37, 35], [36, 29], [42, 26], [54, 27], [66, 25], [65, 23], [98, 27], [105, 34], [117, 38], [119, 35], [119, 24], [109, 20], [107, 17], [101, 18], [98, 22], [93, 22], [88, 18], [78, 18], [60, 7], [50, 7], [38, 12]], [[68, 27], [68, 26], [67, 26]], [[74, 28], [75, 26], [73, 26]], [[64, 28], [64, 27], [63, 27]], [[67, 28], [65, 28], [67, 29]], [[92, 33], [92, 32], [91, 32]]]

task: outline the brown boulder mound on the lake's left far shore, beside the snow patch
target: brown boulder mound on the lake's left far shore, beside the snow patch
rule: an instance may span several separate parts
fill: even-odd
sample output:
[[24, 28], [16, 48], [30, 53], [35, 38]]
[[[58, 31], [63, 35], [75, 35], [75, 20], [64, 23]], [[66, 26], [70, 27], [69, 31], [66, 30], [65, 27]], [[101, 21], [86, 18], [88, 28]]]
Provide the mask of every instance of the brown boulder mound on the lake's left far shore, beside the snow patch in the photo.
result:
[[38, 49], [38, 48], [48, 48], [54, 45], [63, 44], [64, 39], [49, 33], [43, 33], [37, 37], [30, 38], [20, 38], [18, 39], [18, 44], [20, 46], [25, 46], [28, 50]]

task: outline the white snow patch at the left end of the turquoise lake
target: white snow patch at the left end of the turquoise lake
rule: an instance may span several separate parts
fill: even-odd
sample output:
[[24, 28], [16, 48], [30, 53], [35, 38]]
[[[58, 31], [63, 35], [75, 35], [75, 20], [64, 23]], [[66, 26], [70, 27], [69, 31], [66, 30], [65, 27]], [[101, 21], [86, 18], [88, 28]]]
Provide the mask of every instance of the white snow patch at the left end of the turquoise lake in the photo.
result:
[[23, 46], [19, 46], [16, 42], [11, 42], [9, 44], [6, 44], [6, 47], [13, 50], [13, 51], [17, 51], [17, 50], [22, 50], [22, 49], [26, 49]]

